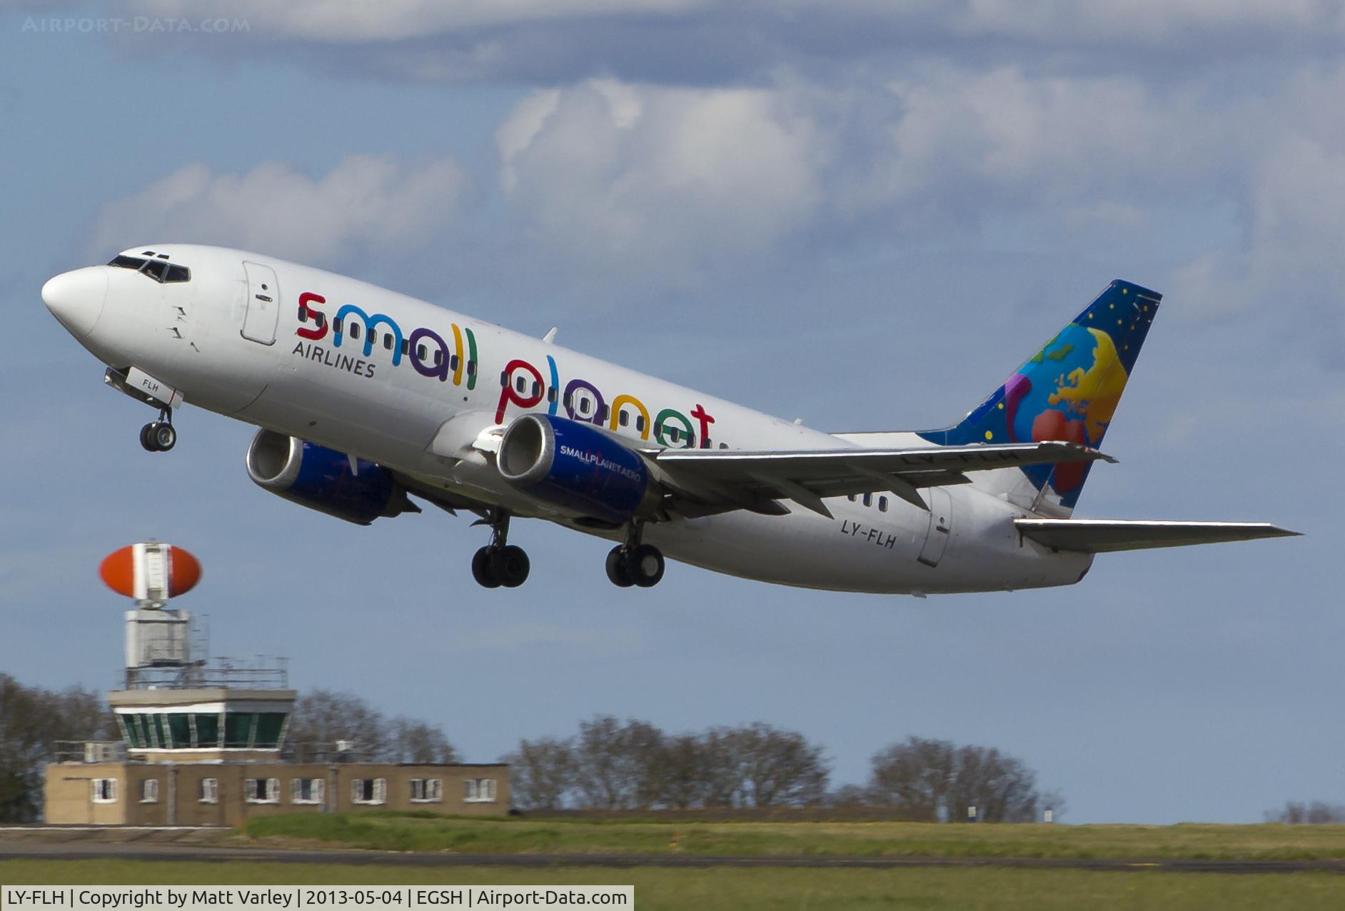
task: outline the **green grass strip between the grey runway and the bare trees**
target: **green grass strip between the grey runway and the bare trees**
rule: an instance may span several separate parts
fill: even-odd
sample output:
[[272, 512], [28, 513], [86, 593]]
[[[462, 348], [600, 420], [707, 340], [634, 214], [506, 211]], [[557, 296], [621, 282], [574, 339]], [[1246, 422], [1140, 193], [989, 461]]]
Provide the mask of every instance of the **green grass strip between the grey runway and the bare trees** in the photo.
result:
[[936, 825], [928, 822], [651, 822], [334, 813], [261, 817], [261, 841], [457, 853], [1186, 860], [1342, 860], [1345, 826]]

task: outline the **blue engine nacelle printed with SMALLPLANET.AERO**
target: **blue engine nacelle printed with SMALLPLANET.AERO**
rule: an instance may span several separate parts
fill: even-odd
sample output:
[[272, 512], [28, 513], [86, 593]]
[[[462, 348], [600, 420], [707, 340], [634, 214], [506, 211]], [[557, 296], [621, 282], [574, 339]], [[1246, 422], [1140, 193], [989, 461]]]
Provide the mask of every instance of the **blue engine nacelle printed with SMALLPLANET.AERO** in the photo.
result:
[[496, 459], [516, 490], [576, 518], [623, 525], [662, 502], [644, 458], [589, 424], [525, 414], [510, 424]]

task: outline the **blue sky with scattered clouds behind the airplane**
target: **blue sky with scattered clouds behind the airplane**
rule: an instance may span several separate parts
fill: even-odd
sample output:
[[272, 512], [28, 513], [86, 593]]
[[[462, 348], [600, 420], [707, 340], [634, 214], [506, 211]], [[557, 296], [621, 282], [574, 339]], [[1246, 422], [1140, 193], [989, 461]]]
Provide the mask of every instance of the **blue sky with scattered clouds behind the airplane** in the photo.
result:
[[[110, 685], [97, 564], [153, 537], [204, 564], [182, 606], [217, 654], [288, 654], [473, 760], [609, 712], [794, 728], [834, 785], [912, 733], [997, 745], [1072, 822], [1345, 802], [1340, 3], [202, 9], [0, 3], [0, 670]], [[948, 424], [1130, 279], [1165, 304], [1077, 514], [1306, 537], [915, 600], [681, 565], [621, 591], [608, 545], [526, 523], [531, 581], [483, 593], [482, 529], [295, 507], [246, 479], [242, 424], [188, 409], [140, 449], [147, 409], [38, 291], [161, 240], [560, 326], [837, 431]]]

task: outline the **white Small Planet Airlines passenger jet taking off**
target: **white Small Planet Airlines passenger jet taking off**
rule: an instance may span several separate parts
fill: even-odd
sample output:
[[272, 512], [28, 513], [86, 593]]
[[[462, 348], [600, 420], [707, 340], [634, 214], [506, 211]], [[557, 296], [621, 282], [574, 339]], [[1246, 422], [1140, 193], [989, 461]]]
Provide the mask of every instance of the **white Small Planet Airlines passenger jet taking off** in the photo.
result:
[[1112, 281], [942, 431], [824, 433], [363, 281], [213, 246], [132, 248], [42, 299], [105, 381], [159, 409], [256, 424], [264, 488], [367, 525], [414, 495], [491, 527], [482, 585], [515, 587], [510, 518], [617, 541], [607, 575], [663, 554], [806, 588], [1069, 585], [1093, 554], [1295, 534], [1262, 522], [1071, 518], [1159, 295]]

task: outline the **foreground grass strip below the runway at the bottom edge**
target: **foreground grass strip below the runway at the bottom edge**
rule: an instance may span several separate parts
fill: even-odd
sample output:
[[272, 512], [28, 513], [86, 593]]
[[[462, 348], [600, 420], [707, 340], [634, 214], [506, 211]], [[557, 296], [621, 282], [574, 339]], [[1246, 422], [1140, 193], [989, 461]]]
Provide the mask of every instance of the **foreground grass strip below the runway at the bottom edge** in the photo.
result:
[[609, 869], [378, 867], [254, 861], [0, 861], [0, 884], [619, 884], [660, 908], [1326, 908], [1345, 906], [1334, 873], [1110, 873], [1041, 869]]

